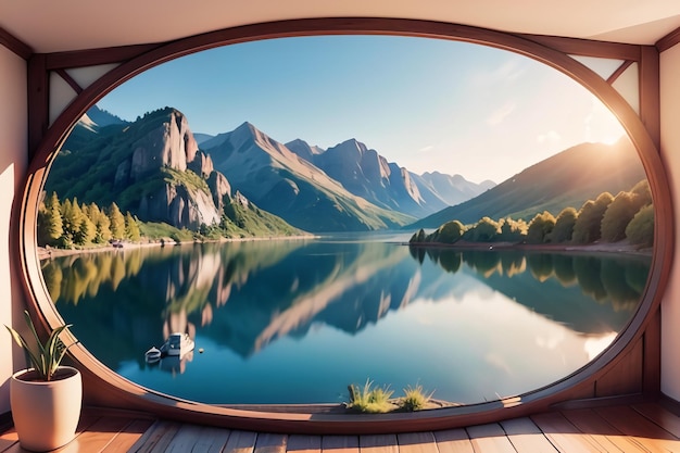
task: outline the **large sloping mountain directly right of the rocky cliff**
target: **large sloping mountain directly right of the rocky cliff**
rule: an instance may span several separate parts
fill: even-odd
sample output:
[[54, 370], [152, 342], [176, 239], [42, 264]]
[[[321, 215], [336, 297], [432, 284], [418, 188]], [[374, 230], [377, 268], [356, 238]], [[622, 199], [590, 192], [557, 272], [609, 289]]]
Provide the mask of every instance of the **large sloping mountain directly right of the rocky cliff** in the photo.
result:
[[398, 228], [414, 217], [349, 192], [337, 180], [250, 123], [202, 148], [234, 187], [262, 209], [306, 231]]

